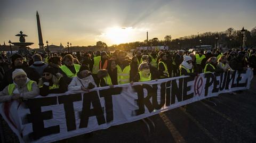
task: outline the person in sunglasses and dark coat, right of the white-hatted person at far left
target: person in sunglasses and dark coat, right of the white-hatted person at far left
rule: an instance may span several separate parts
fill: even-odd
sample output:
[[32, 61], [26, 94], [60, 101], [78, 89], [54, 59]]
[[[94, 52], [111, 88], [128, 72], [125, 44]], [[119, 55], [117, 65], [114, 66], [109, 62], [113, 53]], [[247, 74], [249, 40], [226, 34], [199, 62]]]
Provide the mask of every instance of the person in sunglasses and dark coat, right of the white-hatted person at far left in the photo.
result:
[[49, 94], [61, 94], [68, 90], [68, 83], [60, 73], [55, 73], [53, 68], [46, 67], [38, 86], [41, 96]]

